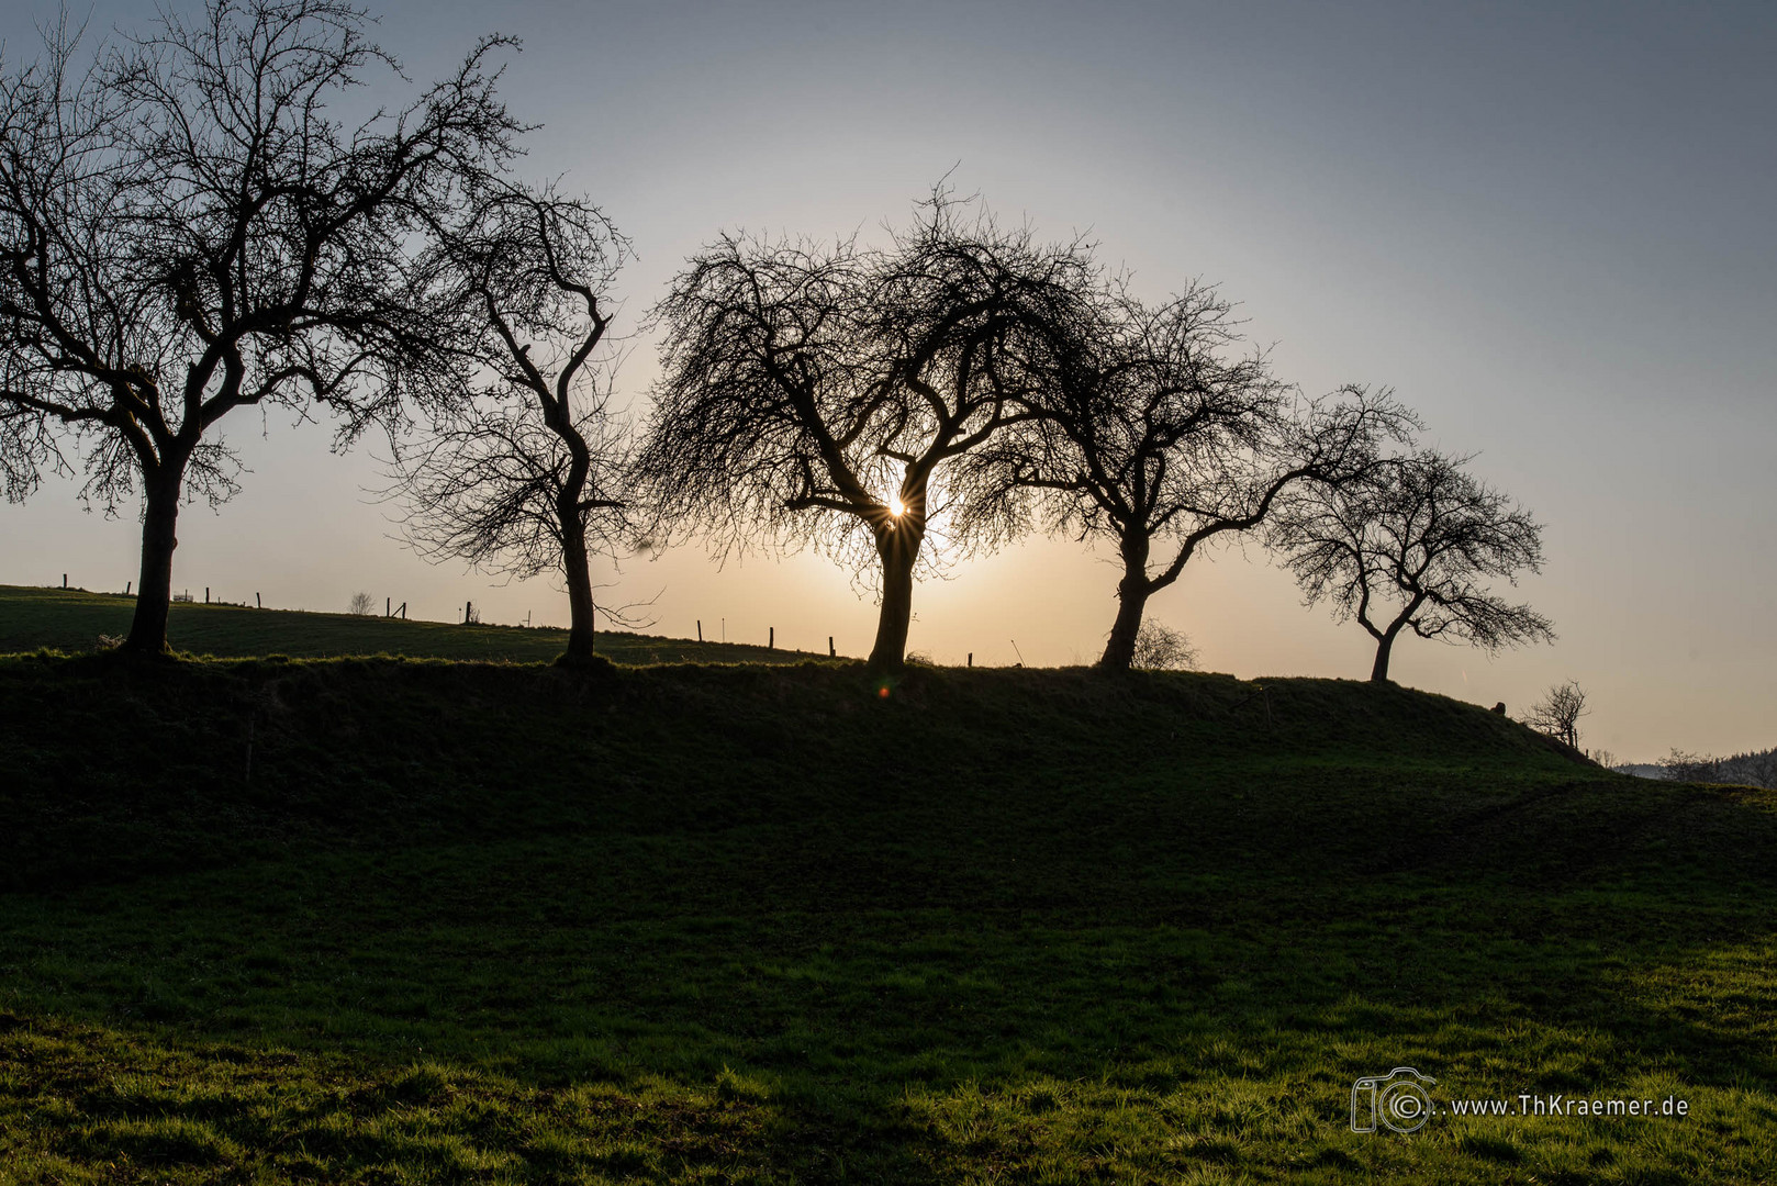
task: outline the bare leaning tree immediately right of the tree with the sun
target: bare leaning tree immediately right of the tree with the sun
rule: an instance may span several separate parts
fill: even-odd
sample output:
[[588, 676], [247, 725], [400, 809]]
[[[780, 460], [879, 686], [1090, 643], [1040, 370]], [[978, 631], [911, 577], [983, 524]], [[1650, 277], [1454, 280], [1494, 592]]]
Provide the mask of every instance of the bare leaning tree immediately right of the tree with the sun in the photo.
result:
[[[1208, 544], [1260, 526], [1304, 480], [1345, 482], [1413, 427], [1388, 391], [1301, 402], [1233, 306], [1192, 284], [1159, 308], [1111, 283], [1047, 325], [1025, 427], [970, 459], [974, 491], [1040, 496], [1057, 533], [1114, 544], [1123, 576], [1100, 667], [1128, 669], [1148, 599]], [[977, 498], [999, 512], [1000, 498]]]

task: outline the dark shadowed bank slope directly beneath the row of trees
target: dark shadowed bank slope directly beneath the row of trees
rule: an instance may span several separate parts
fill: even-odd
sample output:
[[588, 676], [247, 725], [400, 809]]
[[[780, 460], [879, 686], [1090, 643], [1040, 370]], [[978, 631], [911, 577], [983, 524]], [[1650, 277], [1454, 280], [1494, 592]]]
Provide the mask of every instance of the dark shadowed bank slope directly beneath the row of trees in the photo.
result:
[[[147, 670], [9, 660], [0, 756], [14, 775], [9, 805], [23, 814], [0, 837], [0, 878], [25, 885], [82, 862], [108, 875], [183, 866], [199, 850], [240, 852], [259, 837], [277, 852], [297, 837], [485, 837], [606, 827], [613, 813], [771, 804], [785, 818], [814, 804], [1066, 818], [1088, 804], [1151, 809], [1183, 786], [1271, 770], [1400, 775], [1404, 786], [1379, 791], [1336, 830], [1303, 837], [1331, 852], [1340, 836], [1443, 827], [1439, 813], [1402, 807], [1422, 772], [1496, 772], [1498, 789], [1475, 791], [1489, 800], [1526, 779], [1603, 773], [1471, 704], [1365, 683], [913, 669], [880, 692], [862, 669], [825, 663], [601, 679], [387, 658]], [[44, 814], [30, 814], [32, 804]], [[1212, 798], [1192, 820], [1231, 827], [1251, 811], [1228, 814]], [[84, 821], [101, 827], [37, 830]]]

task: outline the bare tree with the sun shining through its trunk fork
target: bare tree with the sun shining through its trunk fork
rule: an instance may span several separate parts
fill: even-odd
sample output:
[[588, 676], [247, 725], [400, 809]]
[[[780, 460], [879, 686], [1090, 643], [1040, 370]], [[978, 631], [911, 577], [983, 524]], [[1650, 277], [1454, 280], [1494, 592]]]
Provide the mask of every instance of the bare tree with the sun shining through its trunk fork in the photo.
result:
[[[871, 669], [903, 663], [920, 548], [970, 493], [956, 459], [1025, 416], [1032, 325], [1089, 286], [942, 190], [887, 249], [725, 235], [656, 308], [665, 375], [638, 462], [661, 521], [727, 555], [814, 546], [880, 580]], [[992, 546], [1008, 521], [958, 521]]]

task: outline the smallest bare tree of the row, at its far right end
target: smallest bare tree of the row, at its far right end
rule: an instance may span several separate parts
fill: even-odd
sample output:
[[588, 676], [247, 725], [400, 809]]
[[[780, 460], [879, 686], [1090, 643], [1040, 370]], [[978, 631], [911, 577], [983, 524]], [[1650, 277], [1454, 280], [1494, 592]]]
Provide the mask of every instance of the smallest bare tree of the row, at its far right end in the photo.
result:
[[1331, 601], [1375, 640], [1370, 679], [1388, 679], [1404, 629], [1487, 651], [1555, 638], [1546, 617], [1487, 590], [1487, 578], [1516, 585], [1519, 571], [1541, 571], [1542, 528], [1466, 462], [1418, 452], [1340, 485], [1308, 484], [1274, 521], [1271, 542], [1308, 605]]

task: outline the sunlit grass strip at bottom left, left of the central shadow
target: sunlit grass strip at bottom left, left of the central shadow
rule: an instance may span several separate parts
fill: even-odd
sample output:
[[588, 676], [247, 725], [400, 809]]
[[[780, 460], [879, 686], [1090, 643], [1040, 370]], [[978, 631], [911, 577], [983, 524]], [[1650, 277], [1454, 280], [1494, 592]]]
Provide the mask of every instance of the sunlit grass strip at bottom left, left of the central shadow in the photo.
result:
[[0, 1181], [739, 1181], [777, 1124], [732, 1081], [526, 1086], [418, 1062], [0, 1033]]

